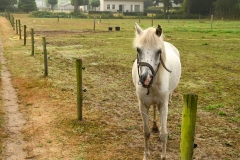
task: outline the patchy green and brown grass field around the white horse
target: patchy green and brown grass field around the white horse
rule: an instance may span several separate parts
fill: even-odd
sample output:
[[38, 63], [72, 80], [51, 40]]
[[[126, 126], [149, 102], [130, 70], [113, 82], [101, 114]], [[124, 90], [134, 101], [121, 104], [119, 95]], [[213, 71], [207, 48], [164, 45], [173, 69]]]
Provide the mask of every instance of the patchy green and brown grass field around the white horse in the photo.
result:
[[[34, 115], [42, 117], [41, 121], [49, 119], [42, 129], [34, 130], [38, 137], [24, 132], [31, 137], [27, 138], [29, 142], [36, 142], [32, 146], [35, 154], [41, 148], [43, 153], [49, 153], [37, 155], [41, 159], [142, 158], [142, 124], [131, 80], [136, 58], [132, 47], [134, 22], [138, 20], [102, 20], [93, 32], [91, 19], [60, 19], [57, 23], [57, 19], [33, 22], [35, 19], [26, 15], [15, 18], [34, 28], [36, 39], [33, 57], [30, 40], [22, 46], [22, 41], [14, 39], [15, 34], [4, 35], [5, 55], [19, 89], [22, 110], [30, 120]], [[178, 159], [182, 95], [186, 93], [199, 96], [196, 142], [201, 152], [196, 151], [194, 156], [240, 158], [239, 22], [215, 21], [213, 29], [209, 20], [155, 20], [157, 24], [162, 25], [166, 41], [179, 49], [182, 61], [181, 81], [169, 107], [169, 158]], [[151, 20], [141, 20], [142, 28], [150, 25]], [[120, 26], [121, 31], [109, 32], [109, 26]], [[49, 42], [47, 78], [43, 78], [42, 36]], [[76, 120], [75, 58], [82, 58], [86, 67], [82, 122]], [[156, 137], [150, 140], [152, 158], [160, 154]], [[61, 153], [46, 151], [58, 145], [62, 145]]]

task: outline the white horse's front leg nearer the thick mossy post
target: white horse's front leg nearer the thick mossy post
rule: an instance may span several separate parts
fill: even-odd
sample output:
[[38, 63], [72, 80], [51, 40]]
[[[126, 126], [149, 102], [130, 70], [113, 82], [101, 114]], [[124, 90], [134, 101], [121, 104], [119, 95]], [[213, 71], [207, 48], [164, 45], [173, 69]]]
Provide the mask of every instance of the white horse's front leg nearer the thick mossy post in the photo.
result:
[[167, 115], [168, 115], [168, 99], [160, 106], [160, 118], [161, 118], [161, 130], [160, 130], [160, 140], [162, 142], [162, 155], [161, 159], [166, 159], [166, 149], [167, 149]]

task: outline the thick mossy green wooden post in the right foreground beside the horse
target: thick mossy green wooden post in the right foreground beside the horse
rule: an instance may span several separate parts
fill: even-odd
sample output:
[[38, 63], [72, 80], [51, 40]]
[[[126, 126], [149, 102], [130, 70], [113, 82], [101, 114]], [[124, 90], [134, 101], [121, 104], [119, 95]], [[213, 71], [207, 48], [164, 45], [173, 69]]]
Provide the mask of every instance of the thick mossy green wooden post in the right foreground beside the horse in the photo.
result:
[[180, 160], [192, 160], [198, 96], [187, 94], [183, 95], [183, 98]]

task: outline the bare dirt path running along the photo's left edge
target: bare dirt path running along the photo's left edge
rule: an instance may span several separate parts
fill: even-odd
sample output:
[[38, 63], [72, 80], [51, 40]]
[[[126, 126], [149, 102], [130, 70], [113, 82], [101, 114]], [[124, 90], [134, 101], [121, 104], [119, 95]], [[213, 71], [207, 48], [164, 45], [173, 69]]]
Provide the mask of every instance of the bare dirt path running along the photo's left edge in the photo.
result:
[[3, 152], [0, 159], [4, 160], [22, 160], [26, 157], [23, 150], [25, 142], [21, 129], [26, 121], [19, 111], [17, 93], [12, 85], [11, 74], [6, 67], [6, 59], [3, 55], [3, 46], [0, 35], [0, 63], [2, 79], [2, 101], [3, 111], [5, 113], [5, 132], [7, 138], [3, 140]]

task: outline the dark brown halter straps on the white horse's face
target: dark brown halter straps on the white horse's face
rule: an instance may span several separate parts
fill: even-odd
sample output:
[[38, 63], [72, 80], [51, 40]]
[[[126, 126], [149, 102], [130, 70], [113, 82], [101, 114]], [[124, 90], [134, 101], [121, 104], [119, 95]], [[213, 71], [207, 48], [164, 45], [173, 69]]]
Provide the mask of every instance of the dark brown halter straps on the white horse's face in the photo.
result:
[[[160, 63], [162, 64], [163, 68], [165, 68], [169, 73], [172, 72], [171, 70], [167, 69], [167, 67], [165, 66], [165, 64], [164, 64], [164, 62], [163, 62], [163, 60], [162, 60], [162, 54], [160, 54], [160, 62], [158, 63], [156, 72], [154, 71], [153, 67], [152, 67], [149, 63], [147, 63], [147, 62], [139, 62], [139, 58], [138, 58], [138, 54], [137, 54], [137, 67], [138, 67], [138, 76], [139, 76], [139, 79], [140, 79], [139, 68], [140, 68], [141, 66], [147, 66], [147, 67], [151, 70], [151, 72], [152, 72], [152, 74], [153, 74], [153, 78], [154, 78], [155, 75], [156, 75], [157, 72], [158, 72]], [[147, 88], [147, 89], [148, 89], [148, 92], [147, 92], [147, 95], [148, 95], [148, 94], [149, 94], [149, 88], [151, 87], [151, 85], [148, 85], [148, 86], [142, 85], [142, 86], [143, 86], [144, 88]]]

